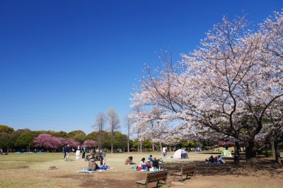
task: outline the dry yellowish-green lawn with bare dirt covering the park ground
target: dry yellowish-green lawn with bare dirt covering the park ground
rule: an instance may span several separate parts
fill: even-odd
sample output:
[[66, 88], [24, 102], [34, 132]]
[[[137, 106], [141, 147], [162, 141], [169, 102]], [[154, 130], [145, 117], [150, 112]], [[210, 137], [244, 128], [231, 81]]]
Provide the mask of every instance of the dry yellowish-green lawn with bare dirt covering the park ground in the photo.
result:
[[[134, 163], [137, 164], [125, 165], [125, 159], [131, 155]], [[76, 171], [86, 168], [88, 162], [81, 158], [76, 160], [75, 153], [70, 153], [69, 161], [64, 161], [62, 153], [8, 153], [8, 155], [0, 156], [0, 187], [137, 187], [135, 182], [143, 180], [146, 172], [133, 172], [132, 168], [137, 167], [141, 158], [147, 159], [149, 155], [162, 158], [161, 152], [106, 153], [105, 162], [112, 169], [85, 174]], [[168, 157], [172, 155], [173, 152], [168, 152]], [[223, 175], [225, 169], [222, 169], [223, 173], [218, 173], [215, 177], [214, 173], [206, 173], [206, 168], [210, 172], [225, 168], [225, 165], [206, 165], [204, 160], [210, 155], [215, 156], [219, 153], [191, 152], [188, 155], [189, 159], [182, 160], [164, 158], [165, 163], [161, 165], [161, 168], [165, 167], [170, 172], [180, 170], [182, 165], [198, 165], [197, 179], [186, 180], [183, 187], [278, 187], [279, 184], [283, 184], [280, 172], [272, 175], [273, 179], [276, 178], [276, 181], [273, 181], [270, 172], [260, 171], [250, 175], [246, 171], [241, 172], [245, 170], [244, 168], [239, 169], [240, 171], [233, 168], [235, 172], [238, 172], [236, 175]], [[56, 167], [56, 170], [50, 170], [52, 166]], [[238, 182], [243, 177], [246, 178], [245, 181]], [[261, 182], [257, 182], [258, 180]], [[168, 177], [170, 187], [180, 186], [180, 184], [173, 184], [172, 181], [173, 176], [170, 175]], [[227, 186], [227, 184], [230, 185]], [[255, 186], [251, 186], [252, 184]]]

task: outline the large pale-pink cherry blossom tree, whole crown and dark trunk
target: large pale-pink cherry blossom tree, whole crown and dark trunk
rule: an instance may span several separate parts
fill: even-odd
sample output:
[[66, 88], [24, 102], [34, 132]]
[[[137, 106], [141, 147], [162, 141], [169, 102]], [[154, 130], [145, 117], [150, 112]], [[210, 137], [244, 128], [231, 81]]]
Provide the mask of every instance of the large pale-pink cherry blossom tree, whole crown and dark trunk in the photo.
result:
[[246, 16], [233, 21], [224, 16], [179, 64], [165, 61], [153, 73], [147, 68], [132, 107], [159, 107], [158, 121], [181, 119], [175, 130], [183, 134], [242, 141], [247, 167], [256, 168], [256, 137], [267, 110], [283, 96], [282, 13], [275, 15], [257, 33], [247, 29]]

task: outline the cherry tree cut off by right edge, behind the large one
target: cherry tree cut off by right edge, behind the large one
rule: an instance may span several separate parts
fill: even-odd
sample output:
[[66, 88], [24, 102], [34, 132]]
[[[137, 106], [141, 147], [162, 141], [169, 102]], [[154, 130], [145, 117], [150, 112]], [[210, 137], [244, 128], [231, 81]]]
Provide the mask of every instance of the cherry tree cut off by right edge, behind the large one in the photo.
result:
[[[269, 17], [265, 20], [265, 23], [260, 24], [262, 35], [265, 37], [265, 41], [262, 47], [262, 52], [266, 54], [272, 54], [273, 61], [277, 62], [275, 66], [277, 74], [282, 75], [282, 61], [283, 61], [283, 12], [275, 12], [275, 18]], [[282, 86], [282, 83], [281, 83]], [[266, 118], [267, 124], [262, 130], [262, 135], [265, 135], [266, 140], [270, 140], [272, 143], [272, 152], [275, 155], [276, 162], [282, 165], [280, 159], [280, 152], [278, 144], [281, 142], [281, 136], [283, 132], [282, 124], [282, 100], [277, 100], [275, 104], [268, 109]], [[271, 131], [268, 131], [270, 130]], [[263, 136], [261, 136], [263, 137]]]

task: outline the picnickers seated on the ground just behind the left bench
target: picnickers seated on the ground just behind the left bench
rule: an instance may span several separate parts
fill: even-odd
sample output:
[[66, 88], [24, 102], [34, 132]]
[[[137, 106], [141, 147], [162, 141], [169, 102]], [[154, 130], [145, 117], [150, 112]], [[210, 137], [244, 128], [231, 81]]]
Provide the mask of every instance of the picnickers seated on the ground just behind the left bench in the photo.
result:
[[[152, 155], [149, 155], [149, 158], [146, 161], [146, 158], [141, 158], [141, 161], [139, 161], [139, 165], [137, 168], [134, 168], [134, 170], [159, 170], [159, 163], [163, 163], [162, 159], [156, 159], [153, 158]], [[129, 156], [125, 160], [125, 165], [135, 165], [136, 163], [133, 162], [132, 156]]]

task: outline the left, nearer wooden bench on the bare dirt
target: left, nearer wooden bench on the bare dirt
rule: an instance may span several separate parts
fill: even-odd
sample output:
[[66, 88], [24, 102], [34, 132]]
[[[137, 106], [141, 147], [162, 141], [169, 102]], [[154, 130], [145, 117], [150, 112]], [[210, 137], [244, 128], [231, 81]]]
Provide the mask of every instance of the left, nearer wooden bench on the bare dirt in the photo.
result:
[[[158, 187], [158, 184], [166, 184], [167, 175], [168, 175], [168, 170], [148, 173], [146, 175], [146, 180], [141, 180], [136, 182], [137, 187], [139, 187], [140, 184], [145, 185], [147, 187], [147, 184], [151, 182], [157, 182], [156, 187]], [[163, 182], [159, 182], [159, 181], [163, 181]]]

